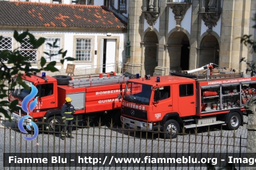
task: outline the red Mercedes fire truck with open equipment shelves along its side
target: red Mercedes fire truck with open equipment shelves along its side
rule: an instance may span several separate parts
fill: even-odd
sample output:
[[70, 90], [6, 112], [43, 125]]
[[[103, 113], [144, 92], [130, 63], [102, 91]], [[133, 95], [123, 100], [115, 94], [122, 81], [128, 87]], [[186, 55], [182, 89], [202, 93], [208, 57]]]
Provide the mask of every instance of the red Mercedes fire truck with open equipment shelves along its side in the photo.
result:
[[[175, 138], [182, 128], [243, 125], [255, 112], [256, 77], [234, 71], [212, 74], [214, 64], [166, 76], [128, 80], [122, 96], [121, 121], [126, 126]], [[208, 74], [195, 74], [207, 69]]]

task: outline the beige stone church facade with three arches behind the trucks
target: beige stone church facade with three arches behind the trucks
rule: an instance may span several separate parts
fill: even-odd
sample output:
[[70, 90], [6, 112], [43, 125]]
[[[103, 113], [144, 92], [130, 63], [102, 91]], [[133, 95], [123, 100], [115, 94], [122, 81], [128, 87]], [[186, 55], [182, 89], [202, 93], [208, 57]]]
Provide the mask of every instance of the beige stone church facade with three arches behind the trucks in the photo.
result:
[[240, 42], [255, 39], [253, 0], [129, 0], [129, 32], [124, 71], [161, 75], [214, 63], [246, 71], [242, 57], [255, 54]]

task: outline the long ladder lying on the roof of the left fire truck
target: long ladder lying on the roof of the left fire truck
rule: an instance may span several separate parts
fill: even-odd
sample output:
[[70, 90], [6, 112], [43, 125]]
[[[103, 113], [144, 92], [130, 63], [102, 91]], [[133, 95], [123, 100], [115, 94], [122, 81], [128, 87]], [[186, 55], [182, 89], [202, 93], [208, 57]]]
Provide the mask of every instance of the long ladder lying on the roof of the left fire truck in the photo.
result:
[[125, 76], [111, 76], [106, 78], [83, 78], [80, 80], [70, 80], [68, 86], [70, 87], [95, 87], [100, 85], [110, 85], [116, 83], [125, 83], [129, 77]]

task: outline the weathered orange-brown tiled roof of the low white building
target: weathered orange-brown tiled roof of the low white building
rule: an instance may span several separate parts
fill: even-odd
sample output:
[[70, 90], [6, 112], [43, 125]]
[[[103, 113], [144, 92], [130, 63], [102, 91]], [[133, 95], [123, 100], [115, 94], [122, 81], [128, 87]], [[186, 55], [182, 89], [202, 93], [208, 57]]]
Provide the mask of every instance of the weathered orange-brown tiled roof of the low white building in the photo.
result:
[[106, 6], [0, 1], [0, 11], [0, 25], [127, 29]]

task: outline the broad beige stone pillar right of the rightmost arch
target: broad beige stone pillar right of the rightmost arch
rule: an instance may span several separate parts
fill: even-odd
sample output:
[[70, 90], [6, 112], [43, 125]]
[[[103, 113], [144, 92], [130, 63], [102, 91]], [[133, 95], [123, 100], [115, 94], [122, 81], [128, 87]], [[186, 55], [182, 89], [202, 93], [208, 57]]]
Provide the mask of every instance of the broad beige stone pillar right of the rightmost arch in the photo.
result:
[[[251, 1], [223, 1], [220, 40], [220, 66], [237, 71], [246, 69], [239, 62], [241, 57], [247, 59], [248, 48], [240, 43], [240, 36], [248, 34]], [[255, 8], [255, 6], [254, 6]]]

